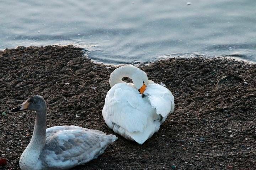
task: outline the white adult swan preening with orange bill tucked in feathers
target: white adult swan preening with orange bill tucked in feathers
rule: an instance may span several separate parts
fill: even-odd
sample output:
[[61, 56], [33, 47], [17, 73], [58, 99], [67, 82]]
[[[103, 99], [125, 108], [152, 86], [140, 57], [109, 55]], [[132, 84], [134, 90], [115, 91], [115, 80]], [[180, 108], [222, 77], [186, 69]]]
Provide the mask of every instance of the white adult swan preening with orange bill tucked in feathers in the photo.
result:
[[[122, 81], [123, 77], [134, 84]], [[173, 112], [174, 96], [134, 66], [115, 69], [109, 81], [111, 89], [102, 110], [106, 124], [128, 140], [143, 144]]]

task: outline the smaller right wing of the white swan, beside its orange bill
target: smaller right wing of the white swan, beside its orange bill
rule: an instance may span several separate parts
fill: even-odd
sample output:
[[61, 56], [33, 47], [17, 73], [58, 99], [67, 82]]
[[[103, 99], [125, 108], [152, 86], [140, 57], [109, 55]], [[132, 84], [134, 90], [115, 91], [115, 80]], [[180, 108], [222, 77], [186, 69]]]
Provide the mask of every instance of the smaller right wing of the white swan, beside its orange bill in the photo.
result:
[[155, 83], [149, 83], [144, 91], [148, 96], [151, 106], [156, 109], [157, 114], [166, 117], [174, 111], [174, 96], [166, 87]]

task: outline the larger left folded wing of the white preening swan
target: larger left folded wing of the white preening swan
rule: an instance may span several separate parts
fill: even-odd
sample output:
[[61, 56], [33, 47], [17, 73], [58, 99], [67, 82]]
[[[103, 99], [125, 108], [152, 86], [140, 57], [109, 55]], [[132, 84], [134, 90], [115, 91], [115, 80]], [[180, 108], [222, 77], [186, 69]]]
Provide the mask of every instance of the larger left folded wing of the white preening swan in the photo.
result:
[[[141, 98], [141, 99], [140, 99]], [[113, 123], [121, 126], [128, 132], [142, 132], [147, 124], [147, 117], [138, 110], [141, 95], [132, 86], [118, 83], [107, 93], [103, 117], [113, 129]]]

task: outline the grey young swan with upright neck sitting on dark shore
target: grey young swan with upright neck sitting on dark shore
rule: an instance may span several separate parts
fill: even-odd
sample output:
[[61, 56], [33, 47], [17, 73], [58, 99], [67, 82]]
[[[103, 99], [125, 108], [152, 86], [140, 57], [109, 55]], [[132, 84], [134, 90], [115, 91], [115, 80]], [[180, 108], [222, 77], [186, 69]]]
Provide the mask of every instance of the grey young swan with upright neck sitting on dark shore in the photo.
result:
[[117, 140], [114, 135], [79, 126], [54, 126], [46, 129], [46, 102], [41, 96], [28, 98], [12, 112], [36, 111], [30, 143], [20, 157], [22, 170], [65, 170], [85, 164], [102, 154]]

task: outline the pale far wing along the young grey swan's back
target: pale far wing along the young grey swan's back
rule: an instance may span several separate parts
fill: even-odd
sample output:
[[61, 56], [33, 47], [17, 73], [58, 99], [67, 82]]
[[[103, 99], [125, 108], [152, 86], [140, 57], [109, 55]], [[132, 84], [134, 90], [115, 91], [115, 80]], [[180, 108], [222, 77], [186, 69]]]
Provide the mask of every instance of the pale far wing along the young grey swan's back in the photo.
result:
[[47, 128], [46, 129], [46, 138], [54, 135], [55, 133], [59, 132], [59, 131], [63, 131], [63, 130], [90, 130], [91, 132], [95, 132], [95, 133], [99, 133], [99, 134], [105, 134], [102, 131], [99, 130], [91, 130], [91, 129], [87, 129], [87, 128], [82, 128], [80, 126], [53, 126], [51, 128]]

